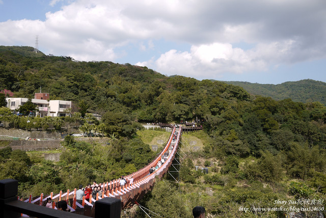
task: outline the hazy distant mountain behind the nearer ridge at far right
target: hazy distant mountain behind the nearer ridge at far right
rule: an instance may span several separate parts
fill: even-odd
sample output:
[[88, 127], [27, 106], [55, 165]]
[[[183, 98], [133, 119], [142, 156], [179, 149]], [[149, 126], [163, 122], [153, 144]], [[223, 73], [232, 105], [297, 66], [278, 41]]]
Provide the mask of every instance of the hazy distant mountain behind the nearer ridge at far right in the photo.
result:
[[275, 100], [291, 98], [293, 101], [319, 101], [326, 105], [326, 83], [313, 79], [288, 81], [278, 85], [242, 81], [223, 81], [223, 83], [240, 86], [250, 94], [268, 96]]

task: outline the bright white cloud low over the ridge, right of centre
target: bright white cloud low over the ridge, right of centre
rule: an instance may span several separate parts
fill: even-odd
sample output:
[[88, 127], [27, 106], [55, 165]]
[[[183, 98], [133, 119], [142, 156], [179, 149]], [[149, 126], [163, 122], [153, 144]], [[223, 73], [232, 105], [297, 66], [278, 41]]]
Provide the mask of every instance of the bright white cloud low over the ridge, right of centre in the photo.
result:
[[[290, 61], [295, 41], [258, 44], [253, 49], [233, 48], [229, 43], [192, 46], [188, 51], [170, 50], [155, 62], [144, 62], [151, 68], [168, 75], [196, 78], [218, 78], [225, 73], [266, 71], [268, 66]], [[138, 63], [140, 64], [140, 63]]]

